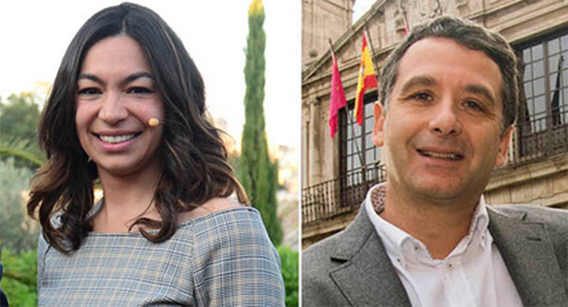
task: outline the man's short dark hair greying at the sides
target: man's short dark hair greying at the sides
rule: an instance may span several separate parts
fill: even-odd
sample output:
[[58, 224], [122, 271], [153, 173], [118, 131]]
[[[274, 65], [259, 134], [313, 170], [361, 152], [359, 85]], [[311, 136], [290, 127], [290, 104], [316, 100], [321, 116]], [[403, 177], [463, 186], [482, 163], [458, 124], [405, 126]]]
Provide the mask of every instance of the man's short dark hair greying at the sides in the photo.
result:
[[503, 78], [503, 131], [515, 123], [519, 87], [517, 85], [517, 58], [511, 46], [498, 33], [491, 32], [467, 20], [442, 16], [412, 28], [406, 38], [391, 52], [382, 68], [380, 102], [387, 106], [398, 76], [400, 60], [411, 45], [427, 37], [452, 39], [466, 48], [481, 51], [499, 66]]

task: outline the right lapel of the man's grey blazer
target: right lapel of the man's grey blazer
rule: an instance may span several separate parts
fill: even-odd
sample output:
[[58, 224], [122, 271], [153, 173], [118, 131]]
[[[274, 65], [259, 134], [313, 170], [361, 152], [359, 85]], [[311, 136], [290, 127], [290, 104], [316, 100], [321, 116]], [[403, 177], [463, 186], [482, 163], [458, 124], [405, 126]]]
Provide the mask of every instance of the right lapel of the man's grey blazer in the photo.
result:
[[552, 242], [543, 224], [525, 221], [527, 212], [487, 208], [495, 239], [525, 307], [566, 306], [566, 292]]

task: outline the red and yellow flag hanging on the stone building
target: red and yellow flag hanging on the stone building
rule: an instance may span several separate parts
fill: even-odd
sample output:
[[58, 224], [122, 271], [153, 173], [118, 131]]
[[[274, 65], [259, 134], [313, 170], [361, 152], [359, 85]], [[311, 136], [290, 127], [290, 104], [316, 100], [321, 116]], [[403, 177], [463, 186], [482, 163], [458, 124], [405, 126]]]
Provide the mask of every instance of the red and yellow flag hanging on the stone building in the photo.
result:
[[375, 68], [373, 59], [367, 47], [367, 39], [363, 34], [363, 47], [361, 48], [361, 64], [359, 66], [359, 79], [357, 81], [357, 94], [355, 96], [355, 112], [354, 118], [359, 125], [363, 124], [363, 97], [365, 90], [377, 87], [377, 77], [375, 77]]

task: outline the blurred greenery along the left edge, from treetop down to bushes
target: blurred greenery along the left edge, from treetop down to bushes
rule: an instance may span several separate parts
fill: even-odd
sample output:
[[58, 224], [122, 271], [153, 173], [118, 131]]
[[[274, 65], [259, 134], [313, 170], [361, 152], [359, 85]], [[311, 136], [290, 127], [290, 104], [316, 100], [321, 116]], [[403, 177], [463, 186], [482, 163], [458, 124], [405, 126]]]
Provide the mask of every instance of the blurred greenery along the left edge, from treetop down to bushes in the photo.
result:
[[37, 95], [12, 94], [0, 100], [0, 245], [2, 289], [11, 307], [36, 306], [37, 225], [27, 217], [28, 167], [45, 161], [37, 145]]

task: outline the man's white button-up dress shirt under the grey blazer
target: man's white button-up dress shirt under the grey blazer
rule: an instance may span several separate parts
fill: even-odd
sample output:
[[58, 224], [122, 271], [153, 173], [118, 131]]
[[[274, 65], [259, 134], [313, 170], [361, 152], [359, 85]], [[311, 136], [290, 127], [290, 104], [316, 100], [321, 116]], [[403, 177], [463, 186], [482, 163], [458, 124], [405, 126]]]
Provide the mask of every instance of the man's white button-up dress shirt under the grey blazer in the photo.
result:
[[445, 259], [433, 259], [422, 242], [377, 214], [375, 207], [384, 204], [384, 194], [384, 183], [371, 188], [365, 210], [412, 306], [523, 306], [487, 228], [489, 216], [483, 196], [466, 237]]

